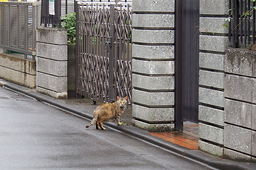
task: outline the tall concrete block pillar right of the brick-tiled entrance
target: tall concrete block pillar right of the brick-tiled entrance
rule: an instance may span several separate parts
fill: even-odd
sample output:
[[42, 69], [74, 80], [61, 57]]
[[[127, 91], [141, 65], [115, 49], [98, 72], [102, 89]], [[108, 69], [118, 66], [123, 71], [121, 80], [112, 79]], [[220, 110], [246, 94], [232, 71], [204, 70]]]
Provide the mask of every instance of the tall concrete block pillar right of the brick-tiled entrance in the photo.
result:
[[222, 24], [228, 14], [228, 0], [200, 0], [200, 14], [198, 147], [223, 156], [224, 55], [229, 42], [228, 29]]

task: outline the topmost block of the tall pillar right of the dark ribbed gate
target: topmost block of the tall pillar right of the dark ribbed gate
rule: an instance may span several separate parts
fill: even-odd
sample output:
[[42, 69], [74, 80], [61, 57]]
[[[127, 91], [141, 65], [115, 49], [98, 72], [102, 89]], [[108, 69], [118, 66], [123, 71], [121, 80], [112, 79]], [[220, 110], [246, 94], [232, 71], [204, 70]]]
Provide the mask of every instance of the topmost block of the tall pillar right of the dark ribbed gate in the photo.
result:
[[228, 10], [227, 0], [200, 0], [200, 14], [227, 15]]

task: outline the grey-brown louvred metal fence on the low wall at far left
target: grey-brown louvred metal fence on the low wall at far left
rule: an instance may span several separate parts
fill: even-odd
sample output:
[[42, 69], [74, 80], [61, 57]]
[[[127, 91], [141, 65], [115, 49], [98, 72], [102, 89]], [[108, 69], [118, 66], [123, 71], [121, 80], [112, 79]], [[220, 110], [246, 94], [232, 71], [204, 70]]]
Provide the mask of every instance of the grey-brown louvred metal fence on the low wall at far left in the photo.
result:
[[0, 2], [0, 48], [32, 55], [35, 60], [40, 3]]

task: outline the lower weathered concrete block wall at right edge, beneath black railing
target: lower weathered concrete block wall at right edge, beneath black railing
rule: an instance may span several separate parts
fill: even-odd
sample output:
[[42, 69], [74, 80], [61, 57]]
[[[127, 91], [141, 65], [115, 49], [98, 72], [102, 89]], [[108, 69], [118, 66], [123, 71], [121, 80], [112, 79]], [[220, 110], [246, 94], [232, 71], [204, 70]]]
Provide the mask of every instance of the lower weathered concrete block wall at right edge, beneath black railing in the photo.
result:
[[256, 159], [256, 51], [229, 48], [224, 58], [224, 156]]

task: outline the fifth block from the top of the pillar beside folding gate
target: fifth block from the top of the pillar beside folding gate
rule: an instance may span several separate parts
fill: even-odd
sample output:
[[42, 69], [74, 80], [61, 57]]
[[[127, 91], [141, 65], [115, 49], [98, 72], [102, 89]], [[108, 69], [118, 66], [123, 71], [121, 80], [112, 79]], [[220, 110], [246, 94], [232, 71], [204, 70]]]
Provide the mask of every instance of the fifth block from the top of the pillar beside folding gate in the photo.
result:
[[132, 71], [142, 74], [174, 74], [174, 61], [132, 60]]

